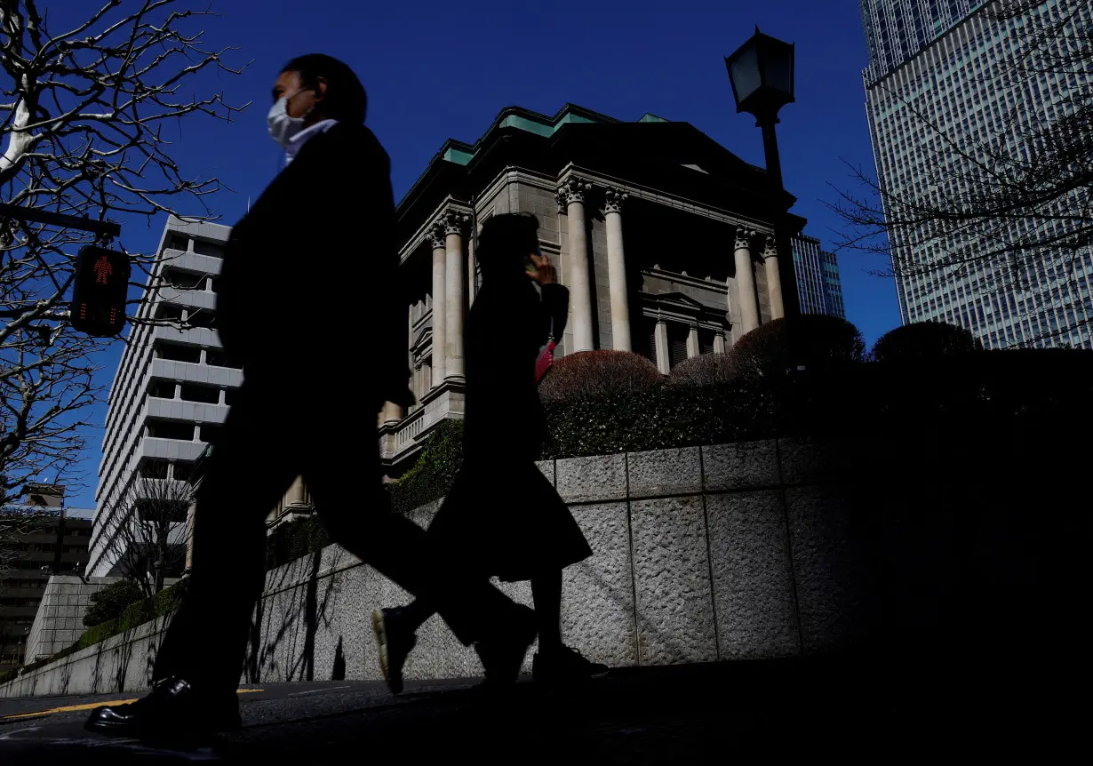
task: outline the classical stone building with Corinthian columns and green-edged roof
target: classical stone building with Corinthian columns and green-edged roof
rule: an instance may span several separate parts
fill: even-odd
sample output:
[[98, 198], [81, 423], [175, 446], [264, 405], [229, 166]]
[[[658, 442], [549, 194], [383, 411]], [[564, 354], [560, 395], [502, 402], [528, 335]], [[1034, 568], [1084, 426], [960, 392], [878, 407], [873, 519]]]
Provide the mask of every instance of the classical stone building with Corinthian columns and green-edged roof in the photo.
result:
[[481, 278], [472, 219], [539, 217], [571, 291], [562, 354], [634, 351], [668, 373], [797, 310], [794, 201], [693, 126], [653, 115], [512, 107], [473, 145], [447, 141], [398, 208], [419, 403], [386, 405], [386, 467], [404, 469], [438, 422], [462, 415], [463, 319]]

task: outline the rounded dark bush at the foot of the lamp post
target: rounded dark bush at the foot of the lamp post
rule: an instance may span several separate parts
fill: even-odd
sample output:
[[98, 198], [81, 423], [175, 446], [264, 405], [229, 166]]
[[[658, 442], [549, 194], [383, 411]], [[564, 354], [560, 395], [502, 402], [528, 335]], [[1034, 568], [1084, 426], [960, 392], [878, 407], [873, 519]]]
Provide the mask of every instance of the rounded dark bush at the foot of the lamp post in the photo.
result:
[[729, 350], [732, 378], [754, 381], [804, 367], [825, 373], [866, 361], [866, 342], [850, 322], [823, 314], [775, 319], [747, 333]]

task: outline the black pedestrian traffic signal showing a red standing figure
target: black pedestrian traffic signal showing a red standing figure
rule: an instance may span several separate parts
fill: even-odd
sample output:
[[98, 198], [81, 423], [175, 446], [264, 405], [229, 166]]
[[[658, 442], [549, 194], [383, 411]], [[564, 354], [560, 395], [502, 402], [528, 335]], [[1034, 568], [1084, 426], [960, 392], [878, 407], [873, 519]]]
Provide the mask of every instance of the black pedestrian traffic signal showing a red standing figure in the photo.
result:
[[72, 328], [89, 335], [111, 337], [126, 326], [129, 256], [86, 245], [75, 257], [75, 283], [69, 311]]

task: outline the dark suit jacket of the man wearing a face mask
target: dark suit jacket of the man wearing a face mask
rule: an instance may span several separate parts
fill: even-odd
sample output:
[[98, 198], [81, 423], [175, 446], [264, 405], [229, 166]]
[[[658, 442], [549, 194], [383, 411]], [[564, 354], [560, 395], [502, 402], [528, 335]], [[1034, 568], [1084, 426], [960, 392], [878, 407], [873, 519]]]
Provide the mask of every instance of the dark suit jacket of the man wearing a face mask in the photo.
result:
[[221, 340], [248, 378], [316, 376], [378, 408], [407, 390], [407, 305], [387, 152], [364, 126], [338, 123], [233, 228]]

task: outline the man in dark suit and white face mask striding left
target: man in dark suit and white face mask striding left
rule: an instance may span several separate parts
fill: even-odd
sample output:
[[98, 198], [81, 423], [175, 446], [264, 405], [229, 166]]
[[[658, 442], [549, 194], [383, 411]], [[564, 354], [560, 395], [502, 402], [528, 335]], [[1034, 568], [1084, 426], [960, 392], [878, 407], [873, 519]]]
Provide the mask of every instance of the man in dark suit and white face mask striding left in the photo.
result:
[[410, 403], [387, 153], [364, 127], [365, 92], [328, 56], [290, 61], [269, 129], [285, 169], [235, 226], [218, 329], [246, 379], [197, 496], [189, 591], [150, 695], [97, 708], [87, 728], [192, 734], [239, 726], [236, 686], [265, 582], [266, 516], [295, 476], [331, 537], [430, 599], [490, 682], [515, 681], [532, 614], [463, 574], [423, 530], [387, 511], [376, 417]]

